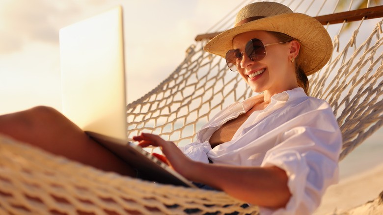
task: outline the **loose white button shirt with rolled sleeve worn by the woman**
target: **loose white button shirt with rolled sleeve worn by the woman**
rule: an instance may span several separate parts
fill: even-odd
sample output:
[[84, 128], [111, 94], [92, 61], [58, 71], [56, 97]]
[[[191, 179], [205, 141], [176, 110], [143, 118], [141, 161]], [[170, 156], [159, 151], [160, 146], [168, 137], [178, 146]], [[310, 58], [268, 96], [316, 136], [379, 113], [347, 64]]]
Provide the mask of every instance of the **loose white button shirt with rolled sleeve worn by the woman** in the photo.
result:
[[326, 188], [338, 182], [342, 136], [328, 103], [308, 97], [301, 87], [274, 95], [264, 110], [254, 111], [229, 142], [214, 149], [212, 134], [247, 112], [263, 94], [222, 109], [185, 146], [192, 160], [241, 166], [278, 166], [286, 171], [292, 194], [286, 208], [260, 208], [262, 215], [309, 215]]

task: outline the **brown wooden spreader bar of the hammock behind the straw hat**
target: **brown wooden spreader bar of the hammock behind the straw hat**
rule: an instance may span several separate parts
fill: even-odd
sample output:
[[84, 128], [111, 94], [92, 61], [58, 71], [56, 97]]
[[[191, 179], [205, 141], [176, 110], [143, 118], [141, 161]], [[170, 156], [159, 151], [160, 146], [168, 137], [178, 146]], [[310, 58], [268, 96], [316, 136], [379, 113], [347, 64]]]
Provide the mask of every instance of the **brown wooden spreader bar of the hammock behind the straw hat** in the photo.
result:
[[[365, 19], [374, 19], [374, 18], [383, 17], [383, 5], [357, 9], [352, 11], [346, 11], [346, 12], [340, 12], [340, 13], [334, 13], [334, 14], [328, 14], [323, 16], [317, 16], [314, 18], [317, 19], [322, 25], [327, 25], [327, 24], [343, 23], [345, 20], [346, 22], [359, 21], [359, 20], [362, 20], [363, 17], [365, 17]], [[201, 41], [204, 39], [210, 40], [220, 33], [221, 32], [199, 34], [195, 37], [194, 40], [195, 41]]]

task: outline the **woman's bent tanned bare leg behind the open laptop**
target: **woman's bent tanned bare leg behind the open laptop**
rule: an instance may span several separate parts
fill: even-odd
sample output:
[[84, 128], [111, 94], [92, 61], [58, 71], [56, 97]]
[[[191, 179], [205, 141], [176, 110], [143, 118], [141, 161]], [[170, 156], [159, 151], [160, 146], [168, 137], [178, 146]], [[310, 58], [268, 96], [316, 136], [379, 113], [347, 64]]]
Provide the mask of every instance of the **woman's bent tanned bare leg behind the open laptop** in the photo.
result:
[[89, 138], [54, 108], [39, 106], [1, 115], [0, 133], [105, 171], [136, 176], [124, 161]]

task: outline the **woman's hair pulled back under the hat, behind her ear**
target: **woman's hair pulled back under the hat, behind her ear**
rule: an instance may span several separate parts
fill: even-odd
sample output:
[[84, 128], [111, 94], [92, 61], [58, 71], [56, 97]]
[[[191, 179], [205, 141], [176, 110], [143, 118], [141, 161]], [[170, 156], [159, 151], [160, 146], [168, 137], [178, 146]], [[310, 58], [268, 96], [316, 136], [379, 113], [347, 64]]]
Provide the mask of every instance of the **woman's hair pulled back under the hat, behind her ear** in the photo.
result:
[[[274, 35], [280, 42], [296, 40], [301, 45], [301, 42], [299, 40], [297, 40], [297, 39], [295, 39], [295, 38], [293, 38], [287, 34], [280, 33], [280, 32], [274, 32], [274, 31], [268, 31], [268, 32], [271, 33], [272, 35]], [[304, 71], [300, 67], [301, 62], [303, 60], [301, 57], [301, 50], [303, 48], [304, 47], [302, 47], [302, 45], [301, 45], [301, 48], [299, 50], [298, 55], [294, 58], [295, 75], [297, 78], [298, 86], [302, 87], [304, 89], [304, 92], [308, 95], [309, 94], [309, 92], [308, 92], [308, 88], [309, 88], [308, 78], [306, 76], [306, 73], [304, 73]]]

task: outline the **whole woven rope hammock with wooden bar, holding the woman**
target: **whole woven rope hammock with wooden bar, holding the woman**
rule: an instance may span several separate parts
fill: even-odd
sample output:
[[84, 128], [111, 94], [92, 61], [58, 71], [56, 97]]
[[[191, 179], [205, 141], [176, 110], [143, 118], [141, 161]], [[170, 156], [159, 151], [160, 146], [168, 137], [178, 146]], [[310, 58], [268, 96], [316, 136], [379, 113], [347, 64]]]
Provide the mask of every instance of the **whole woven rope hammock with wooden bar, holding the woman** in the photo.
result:
[[[243, 1], [208, 32], [232, 27], [236, 12], [250, 2]], [[278, 2], [317, 17], [333, 38], [330, 61], [309, 77], [310, 95], [333, 108], [343, 159], [382, 126], [383, 6], [355, 10], [351, 2], [348, 11], [335, 13], [339, 0], [335, 6], [327, 0]], [[332, 14], [319, 16], [329, 7]], [[346, 20], [355, 22], [348, 26]], [[255, 95], [224, 59], [203, 52], [215, 34], [197, 36], [176, 70], [127, 106], [129, 138], [149, 132], [185, 145], [220, 109]], [[103, 172], [0, 136], [0, 214], [257, 214], [256, 206], [243, 204], [220, 191]]]

